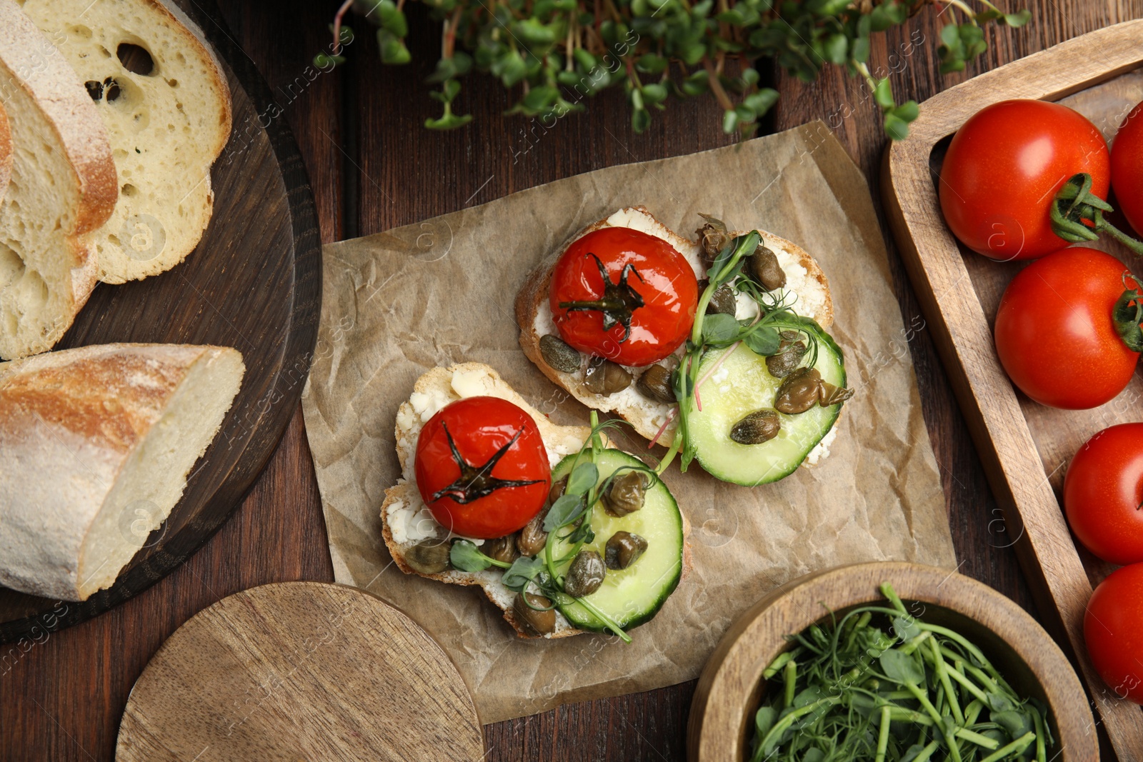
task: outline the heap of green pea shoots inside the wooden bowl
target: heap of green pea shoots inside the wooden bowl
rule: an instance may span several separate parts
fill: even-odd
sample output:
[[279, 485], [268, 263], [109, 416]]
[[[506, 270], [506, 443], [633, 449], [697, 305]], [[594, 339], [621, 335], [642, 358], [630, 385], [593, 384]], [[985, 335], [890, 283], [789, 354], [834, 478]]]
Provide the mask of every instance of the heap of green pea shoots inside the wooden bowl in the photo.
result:
[[[889, 605], [812, 625], [764, 672], [752, 762], [1046, 762], [1045, 707], [1021, 698], [960, 633]], [[877, 619], [874, 619], [877, 618]], [[888, 627], [877, 621], [888, 623]]]

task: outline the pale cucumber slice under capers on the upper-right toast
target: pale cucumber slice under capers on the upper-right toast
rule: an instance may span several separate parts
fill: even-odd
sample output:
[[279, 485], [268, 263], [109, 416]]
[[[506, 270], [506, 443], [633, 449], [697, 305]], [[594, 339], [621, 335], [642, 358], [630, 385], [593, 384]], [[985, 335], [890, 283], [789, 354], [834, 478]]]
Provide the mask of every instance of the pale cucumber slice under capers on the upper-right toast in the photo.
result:
[[[841, 350], [816, 323], [817, 362], [814, 367], [824, 380], [846, 385]], [[714, 375], [698, 390], [703, 409], [692, 408], [687, 417], [687, 436], [695, 447], [695, 457], [712, 476], [722, 481], [754, 487], [788, 476], [801, 465], [809, 451], [822, 441], [841, 411], [840, 404], [815, 406], [796, 416], [778, 414], [782, 430], [762, 444], [740, 444], [730, 439], [730, 428], [746, 415], [774, 407], [782, 379], [766, 369], [766, 358], [754, 354], [745, 344], [734, 350], [708, 351], [700, 361], [698, 377], [730, 352]]]

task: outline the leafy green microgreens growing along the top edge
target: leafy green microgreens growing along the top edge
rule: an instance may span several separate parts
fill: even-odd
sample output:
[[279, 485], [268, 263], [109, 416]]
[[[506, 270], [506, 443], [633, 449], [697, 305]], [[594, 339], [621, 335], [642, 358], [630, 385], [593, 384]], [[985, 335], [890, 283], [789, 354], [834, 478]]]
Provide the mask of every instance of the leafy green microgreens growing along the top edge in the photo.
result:
[[[828, 64], [861, 77], [881, 110], [886, 133], [909, 134], [917, 103], [898, 104], [888, 77], [869, 69], [870, 37], [905, 22], [924, 6], [949, 10], [941, 32], [942, 72], [961, 71], [988, 48], [983, 26], [1022, 26], [1028, 10], [1002, 13], [989, 0], [981, 10], [965, 0], [421, 0], [442, 22], [441, 56], [429, 78], [440, 86], [432, 97], [443, 113], [425, 120], [430, 129], [453, 129], [472, 120], [454, 112], [459, 78], [490, 74], [519, 93], [509, 114], [541, 118], [545, 126], [583, 98], [622, 87], [631, 126], [641, 133], [652, 109], [671, 96], [711, 93], [722, 110], [726, 133], [753, 134], [778, 94], [759, 86], [753, 62], [772, 58], [810, 82]], [[345, 0], [330, 31], [333, 54], [318, 54], [326, 70], [342, 63], [341, 45], [352, 39], [342, 23], [352, 8], [377, 26], [386, 64], [410, 59], [405, 47], [406, 0]], [[910, 48], [910, 51], [912, 48]]]

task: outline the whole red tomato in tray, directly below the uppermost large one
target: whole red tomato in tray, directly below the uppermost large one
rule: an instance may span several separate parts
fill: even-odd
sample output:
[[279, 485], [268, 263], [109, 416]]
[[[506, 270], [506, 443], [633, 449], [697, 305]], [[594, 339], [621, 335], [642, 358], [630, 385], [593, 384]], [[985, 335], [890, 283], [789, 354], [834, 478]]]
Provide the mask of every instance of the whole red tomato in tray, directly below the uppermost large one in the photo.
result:
[[1033, 262], [1008, 283], [997, 311], [997, 354], [1024, 394], [1080, 410], [1127, 386], [1140, 355], [1111, 320], [1126, 270], [1110, 254], [1077, 247]]

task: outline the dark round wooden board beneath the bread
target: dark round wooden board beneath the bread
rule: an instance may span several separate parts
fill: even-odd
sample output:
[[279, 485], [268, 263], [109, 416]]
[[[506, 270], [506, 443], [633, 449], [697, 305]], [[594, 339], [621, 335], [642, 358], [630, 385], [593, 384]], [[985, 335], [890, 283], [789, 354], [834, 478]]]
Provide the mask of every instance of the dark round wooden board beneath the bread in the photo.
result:
[[[234, 128], [215, 162], [215, 211], [199, 247], [174, 270], [99, 284], [57, 348], [111, 342], [234, 346], [242, 388], [166, 523], [114, 586], [82, 603], [0, 588], [0, 643], [30, 639], [106, 611], [150, 587], [230, 516], [281, 439], [302, 394], [317, 340], [321, 241], [313, 194], [285, 121], [258, 114], [273, 96], [218, 14], [186, 0], [223, 61]], [[288, 506], [283, 506], [288, 510]], [[128, 524], [129, 527], [129, 524]]]

